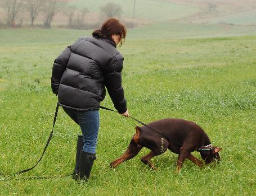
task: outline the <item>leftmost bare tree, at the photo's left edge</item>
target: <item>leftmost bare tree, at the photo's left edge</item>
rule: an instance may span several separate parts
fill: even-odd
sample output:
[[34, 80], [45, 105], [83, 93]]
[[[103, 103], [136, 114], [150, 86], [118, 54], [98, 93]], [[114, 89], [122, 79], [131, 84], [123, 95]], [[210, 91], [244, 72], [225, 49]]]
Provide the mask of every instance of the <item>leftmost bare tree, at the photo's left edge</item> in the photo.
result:
[[23, 10], [23, 0], [1, 0], [0, 3], [7, 12], [7, 25], [15, 26], [15, 19]]

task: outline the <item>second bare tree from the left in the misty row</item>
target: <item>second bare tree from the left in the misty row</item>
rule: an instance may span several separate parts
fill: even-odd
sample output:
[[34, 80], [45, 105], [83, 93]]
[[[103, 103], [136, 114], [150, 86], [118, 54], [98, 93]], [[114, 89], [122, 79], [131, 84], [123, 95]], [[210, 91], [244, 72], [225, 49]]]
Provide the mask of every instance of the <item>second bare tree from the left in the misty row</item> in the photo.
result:
[[34, 20], [40, 12], [43, 0], [25, 0], [25, 8], [28, 10], [31, 19], [31, 26], [34, 25]]

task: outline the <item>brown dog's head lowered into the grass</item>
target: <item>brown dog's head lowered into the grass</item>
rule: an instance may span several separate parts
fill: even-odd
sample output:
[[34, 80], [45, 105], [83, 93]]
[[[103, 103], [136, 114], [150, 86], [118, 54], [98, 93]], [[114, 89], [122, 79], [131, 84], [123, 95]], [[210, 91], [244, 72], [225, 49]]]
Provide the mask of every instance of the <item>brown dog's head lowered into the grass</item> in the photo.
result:
[[209, 150], [200, 150], [199, 152], [205, 164], [210, 164], [213, 161], [221, 161], [221, 157], [219, 156], [221, 149], [220, 147], [213, 146]]

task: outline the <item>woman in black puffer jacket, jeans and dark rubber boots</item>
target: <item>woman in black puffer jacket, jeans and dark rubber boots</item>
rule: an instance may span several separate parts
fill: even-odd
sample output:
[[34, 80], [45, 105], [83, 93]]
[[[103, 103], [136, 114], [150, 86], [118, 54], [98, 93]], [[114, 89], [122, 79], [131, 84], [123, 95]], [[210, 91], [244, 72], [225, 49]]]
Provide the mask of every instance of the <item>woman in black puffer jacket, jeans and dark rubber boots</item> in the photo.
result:
[[83, 134], [81, 152], [78, 139], [74, 171], [80, 179], [89, 178], [96, 159], [98, 109], [105, 98], [105, 87], [118, 113], [129, 117], [122, 87], [123, 57], [116, 50], [125, 35], [125, 26], [116, 18], [109, 18], [92, 36], [79, 38], [68, 46], [53, 63], [52, 92], [58, 95], [59, 104], [80, 125]]

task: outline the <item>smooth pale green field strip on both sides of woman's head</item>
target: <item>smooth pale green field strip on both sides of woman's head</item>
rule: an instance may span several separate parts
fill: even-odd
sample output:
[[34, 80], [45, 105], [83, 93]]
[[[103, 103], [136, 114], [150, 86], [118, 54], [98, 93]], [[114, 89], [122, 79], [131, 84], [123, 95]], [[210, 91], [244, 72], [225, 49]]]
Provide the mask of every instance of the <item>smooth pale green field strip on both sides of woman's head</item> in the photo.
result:
[[[45, 45], [73, 43], [93, 30], [71, 29], [0, 29], [2, 46]], [[12, 35], [12, 36], [10, 36]], [[129, 39], [214, 38], [223, 36], [256, 35], [256, 26], [200, 25], [177, 22], [152, 23], [128, 29]]]

